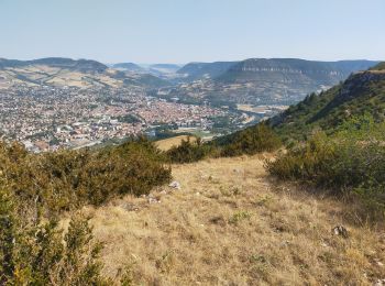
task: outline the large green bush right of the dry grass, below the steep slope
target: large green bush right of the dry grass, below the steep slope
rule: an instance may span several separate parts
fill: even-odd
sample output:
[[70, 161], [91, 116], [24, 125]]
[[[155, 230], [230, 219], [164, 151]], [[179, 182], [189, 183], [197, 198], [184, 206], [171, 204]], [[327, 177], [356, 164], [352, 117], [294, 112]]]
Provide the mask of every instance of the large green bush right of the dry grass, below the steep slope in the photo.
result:
[[266, 164], [282, 179], [360, 194], [371, 206], [385, 208], [385, 124], [353, 119], [331, 136], [317, 133], [304, 145]]

